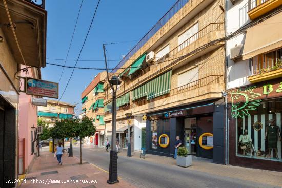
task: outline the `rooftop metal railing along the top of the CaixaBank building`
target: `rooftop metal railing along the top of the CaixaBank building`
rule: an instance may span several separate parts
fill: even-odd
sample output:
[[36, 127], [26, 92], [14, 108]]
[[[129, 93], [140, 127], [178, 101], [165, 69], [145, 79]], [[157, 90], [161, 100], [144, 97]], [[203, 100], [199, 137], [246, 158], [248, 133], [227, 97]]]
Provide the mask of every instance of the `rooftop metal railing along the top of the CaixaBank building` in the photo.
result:
[[169, 11], [150, 29], [150, 31], [130, 50], [130, 52], [117, 64], [116, 69], [112, 70], [112, 73], [116, 72], [117, 69], [122, 67], [127, 60], [130, 59], [147, 41], [154, 35], [160, 28], [162, 28], [170, 18], [173, 17], [185, 4], [190, 0], [178, 0]]

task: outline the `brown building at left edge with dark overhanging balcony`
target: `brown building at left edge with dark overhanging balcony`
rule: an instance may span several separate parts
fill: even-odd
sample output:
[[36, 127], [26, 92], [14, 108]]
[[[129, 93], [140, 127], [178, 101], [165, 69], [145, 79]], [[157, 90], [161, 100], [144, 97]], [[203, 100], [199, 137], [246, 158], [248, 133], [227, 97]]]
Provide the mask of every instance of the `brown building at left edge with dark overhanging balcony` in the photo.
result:
[[[6, 179], [18, 179], [19, 165], [18, 118], [21, 114], [19, 79], [36, 75], [46, 65], [47, 11], [44, 1], [0, 1], [0, 187], [14, 187]], [[22, 69], [24, 67], [34, 67]], [[31, 137], [31, 135], [28, 135]], [[9, 143], [9, 144], [7, 144]], [[30, 145], [30, 144], [29, 144]], [[22, 152], [22, 151], [21, 151]], [[22, 156], [21, 156], [22, 157]]]

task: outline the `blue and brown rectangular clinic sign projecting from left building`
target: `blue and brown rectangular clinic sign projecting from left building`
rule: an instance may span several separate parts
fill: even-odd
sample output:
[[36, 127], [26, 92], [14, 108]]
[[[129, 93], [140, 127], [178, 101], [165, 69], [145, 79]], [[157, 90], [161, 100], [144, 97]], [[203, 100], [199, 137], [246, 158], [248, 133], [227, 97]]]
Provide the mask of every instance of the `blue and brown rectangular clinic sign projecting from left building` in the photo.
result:
[[59, 98], [58, 83], [26, 77], [26, 94]]

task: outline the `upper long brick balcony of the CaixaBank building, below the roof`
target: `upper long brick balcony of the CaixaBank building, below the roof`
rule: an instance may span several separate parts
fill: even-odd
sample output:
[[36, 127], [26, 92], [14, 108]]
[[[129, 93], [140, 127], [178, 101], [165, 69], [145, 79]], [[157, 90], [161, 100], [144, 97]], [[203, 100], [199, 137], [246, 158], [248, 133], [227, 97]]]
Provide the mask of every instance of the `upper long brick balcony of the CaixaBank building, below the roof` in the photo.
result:
[[[170, 69], [172, 66], [177, 68], [183, 64], [183, 62], [187, 63], [188, 61], [192, 61], [195, 58], [198, 58], [209, 51], [212, 51], [219, 46], [222, 46], [221, 43], [216, 43], [201, 50], [198, 50], [196, 53], [191, 53], [195, 49], [202, 47], [209, 43], [212, 40], [219, 39], [224, 37], [224, 24], [223, 23], [210, 23], [202, 30], [198, 31], [196, 34], [188, 38], [184, 43], [180, 44], [173, 50], [171, 50], [168, 54], [164, 55], [162, 58], [159, 58], [156, 62], [148, 65], [142, 72], [135, 76], [135, 78], [131, 80], [126, 80], [119, 87], [117, 91], [117, 96], [127, 93], [130, 90], [133, 90], [135, 87], [142, 85], [152, 76], [165, 72]], [[190, 54], [191, 53], [191, 54]], [[160, 72], [162, 71], [162, 72]], [[155, 73], [155, 74], [152, 74]], [[105, 100], [105, 103], [108, 103], [112, 98], [112, 93], [108, 93], [108, 99]]]

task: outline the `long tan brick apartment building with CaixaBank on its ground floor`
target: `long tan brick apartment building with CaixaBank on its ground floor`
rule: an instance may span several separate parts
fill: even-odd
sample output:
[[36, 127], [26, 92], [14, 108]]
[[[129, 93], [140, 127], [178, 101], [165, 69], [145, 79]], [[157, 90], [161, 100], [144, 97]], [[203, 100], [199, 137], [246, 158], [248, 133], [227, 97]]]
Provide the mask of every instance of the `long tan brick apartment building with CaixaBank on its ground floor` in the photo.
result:
[[[225, 1], [177, 1], [119, 62], [111, 75], [122, 79], [116, 115], [122, 147], [125, 113], [132, 113], [132, 150], [146, 147], [147, 153], [172, 156], [180, 136], [189, 154], [225, 163], [224, 22]], [[111, 97], [108, 87], [109, 126]]]

